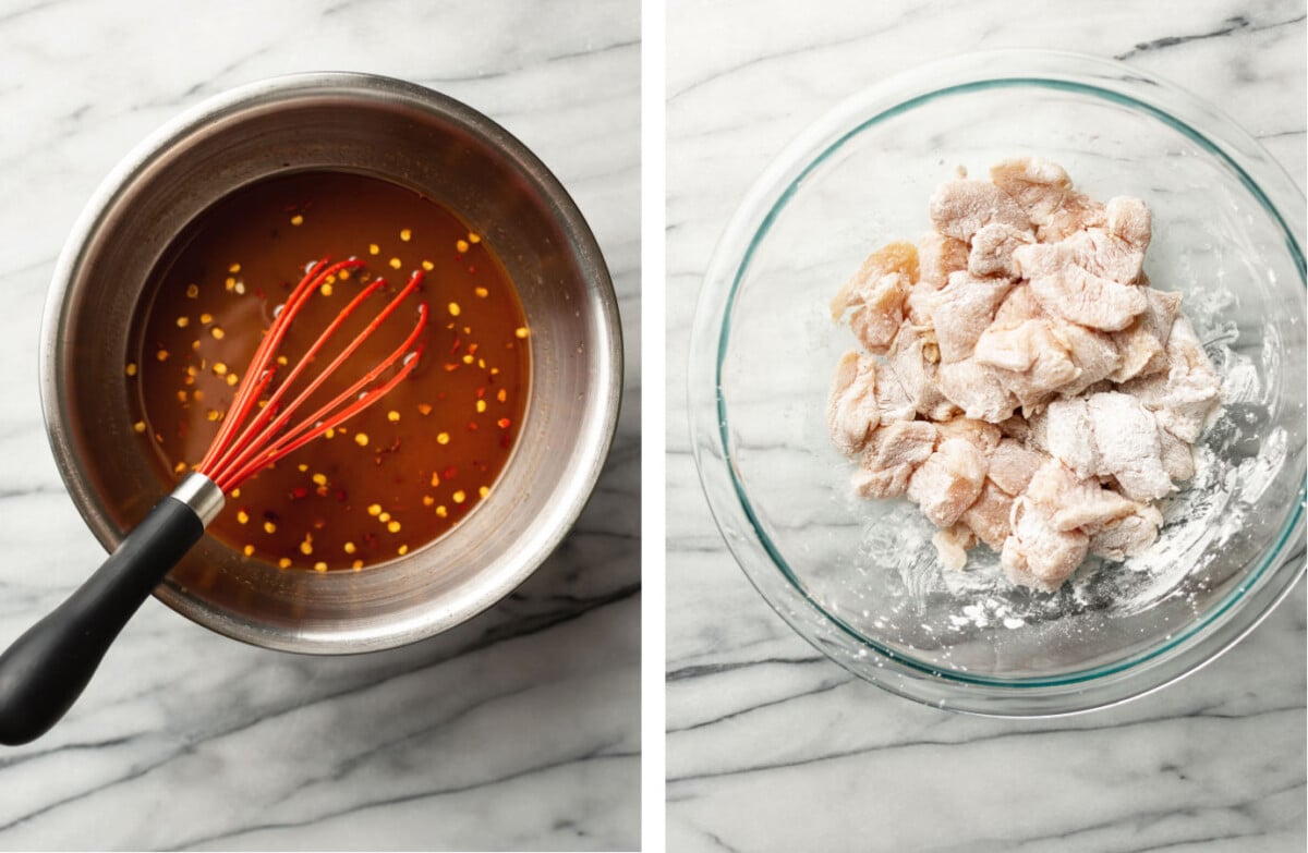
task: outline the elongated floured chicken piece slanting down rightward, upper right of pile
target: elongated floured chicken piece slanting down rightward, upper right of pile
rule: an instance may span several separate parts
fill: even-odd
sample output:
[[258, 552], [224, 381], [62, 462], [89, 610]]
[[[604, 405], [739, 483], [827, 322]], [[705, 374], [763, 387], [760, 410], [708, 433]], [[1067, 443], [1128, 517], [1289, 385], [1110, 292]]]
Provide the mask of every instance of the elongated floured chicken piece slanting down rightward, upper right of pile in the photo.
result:
[[1091, 328], [1117, 331], [1148, 306], [1139, 288], [1096, 276], [1076, 266], [1073, 255], [1063, 243], [1019, 246], [1012, 252], [1045, 311]]

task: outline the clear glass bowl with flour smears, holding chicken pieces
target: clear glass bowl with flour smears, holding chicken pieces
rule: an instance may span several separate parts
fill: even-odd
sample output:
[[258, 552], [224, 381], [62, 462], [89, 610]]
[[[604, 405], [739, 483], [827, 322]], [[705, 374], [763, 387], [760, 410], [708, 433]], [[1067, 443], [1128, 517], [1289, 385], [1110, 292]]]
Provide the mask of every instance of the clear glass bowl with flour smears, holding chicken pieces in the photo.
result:
[[[1184, 293], [1226, 396], [1159, 542], [1056, 594], [1010, 586], [984, 547], [968, 572], [940, 568], [914, 506], [850, 493], [824, 423], [854, 345], [831, 297], [872, 249], [929, 229], [927, 198], [957, 166], [984, 177], [1022, 154], [1062, 164], [1093, 198], [1148, 203], [1146, 272]], [[1196, 670], [1304, 570], [1304, 216], [1228, 118], [1118, 63], [973, 54], [846, 101], [755, 184], [700, 297], [692, 433], [731, 552], [818, 649], [922, 703], [1062, 714]]]

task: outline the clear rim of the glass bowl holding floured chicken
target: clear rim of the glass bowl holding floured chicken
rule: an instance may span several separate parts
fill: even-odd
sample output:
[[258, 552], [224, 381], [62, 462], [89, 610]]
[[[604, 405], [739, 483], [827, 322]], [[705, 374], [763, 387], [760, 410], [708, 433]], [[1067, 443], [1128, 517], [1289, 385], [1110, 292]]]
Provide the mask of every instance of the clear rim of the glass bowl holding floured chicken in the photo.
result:
[[[797, 136], [755, 182], [723, 232], [705, 275], [691, 343], [688, 412], [696, 466], [719, 531], [751, 583], [808, 642], [854, 674], [916, 701], [989, 716], [1059, 716], [1158, 689], [1216, 658], [1252, 631], [1304, 573], [1305, 566], [1301, 561], [1295, 565], [1296, 555], [1287, 553], [1292, 549], [1287, 546], [1303, 539], [1308, 480], [1300, 483], [1292, 512], [1273, 538], [1275, 546], [1261, 557], [1261, 565], [1173, 638], [1121, 661], [1058, 676], [974, 676], [916, 661], [870, 640], [810, 595], [760, 525], [744, 484], [736, 478], [721, 390], [731, 309], [752, 252], [803, 179], [846, 141], [883, 119], [938, 97], [1011, 86], [1045, 86], [1127, 105], [1207, 149], [1239, 177], [1281, 226], [1304, 283], [1299, 237], [1304, 232], [1303, 194], [1233, 120], [1173, 84], [1114, 60], [1063, 51], [978, 51], [909, 69], [853, 94]], [[1205, 132], [1194, 124], [1202, 124]], [[769, 577], [772, 569], [776, 572]], [[777, 574], [785, 583], [773, 582]], [[1274, 576], [1277, 583], [1269, 581]], [[1250, 602], [1260, 606], [1250, 607]], [[811, 625], [802, 620], [814, 618], [833, 635], [810, 636]], [[1218, 641], [1206, 642], [1210, 637]], [[841, 655], [846, 642], [857, 646], [859, 655], [865, 652], [876, 655], [878, 669], [865, 671], [846, 663]], [[1150, 678], [1134, 676], [1139, 672], [1150, 672]], [[1129, 674], [1133, 678], [1126, 679]], [[967, 689], [959, 695], [948, 692], [952, 688]]]

